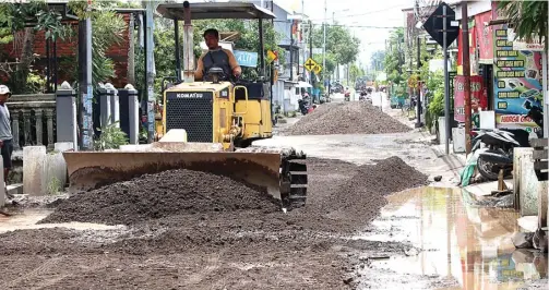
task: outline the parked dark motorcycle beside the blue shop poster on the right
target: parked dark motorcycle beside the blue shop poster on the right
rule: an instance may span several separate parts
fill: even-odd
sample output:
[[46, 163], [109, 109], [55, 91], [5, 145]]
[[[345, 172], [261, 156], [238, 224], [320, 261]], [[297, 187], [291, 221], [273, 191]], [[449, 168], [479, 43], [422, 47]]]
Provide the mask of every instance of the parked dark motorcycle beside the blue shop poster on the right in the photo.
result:
[[[488, 180], [498, 180], [500, 170], [510, 176], [513, 170], [513, 149], [528, 147], [528, 132], [524, 130], [475, 131], [472, 152], [478, 152], [478, 172]], [[482, 146], [484, 145], [484, 146]]]

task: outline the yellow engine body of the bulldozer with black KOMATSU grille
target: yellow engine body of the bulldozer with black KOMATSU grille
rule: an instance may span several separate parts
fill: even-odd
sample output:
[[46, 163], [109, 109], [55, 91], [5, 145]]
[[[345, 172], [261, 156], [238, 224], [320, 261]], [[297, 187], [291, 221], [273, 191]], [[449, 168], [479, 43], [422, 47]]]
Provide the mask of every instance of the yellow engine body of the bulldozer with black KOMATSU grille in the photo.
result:
[[164, 134], [184, 129], [188, 142], [247, 147], [273, 136], [271, 104], [263, 84], [181, 83], [164, 92]]

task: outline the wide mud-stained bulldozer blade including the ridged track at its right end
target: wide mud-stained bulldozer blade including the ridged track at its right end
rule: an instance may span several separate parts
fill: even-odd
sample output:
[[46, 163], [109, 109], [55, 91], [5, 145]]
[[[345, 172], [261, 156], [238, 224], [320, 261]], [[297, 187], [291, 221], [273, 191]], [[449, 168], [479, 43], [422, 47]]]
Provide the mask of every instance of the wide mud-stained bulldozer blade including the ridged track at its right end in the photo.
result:
[[[284, 208], [305, 205], [305, 165], [281, 153], [248, 152], [64, 152], [69, 192], [89, 191], [111, 183], [171, 169], [225, 176], [268, 193]], [[291, 172], [290, 172], [291, 171]], [[301, 171], [301, 172], [297, 172]], [[295, 186], [295, 183], [299, 186]], [[305, 183], [305, 184], [303, 184]], [[293, 194], [291, 193], [296, 193]]]

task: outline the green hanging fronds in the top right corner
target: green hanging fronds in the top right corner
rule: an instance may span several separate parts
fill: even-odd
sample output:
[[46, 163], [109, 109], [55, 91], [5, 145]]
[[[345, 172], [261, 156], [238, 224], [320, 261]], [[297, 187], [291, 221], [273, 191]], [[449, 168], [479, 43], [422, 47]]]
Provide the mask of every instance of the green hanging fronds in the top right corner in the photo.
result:
[[[509, 19], [518, 38], [532, 40], [538, 36], [540, 41], [548, 38], [548, 1], [501, 1], [498, 8]], [[546, 47], [548, 43], [546, 40]]]

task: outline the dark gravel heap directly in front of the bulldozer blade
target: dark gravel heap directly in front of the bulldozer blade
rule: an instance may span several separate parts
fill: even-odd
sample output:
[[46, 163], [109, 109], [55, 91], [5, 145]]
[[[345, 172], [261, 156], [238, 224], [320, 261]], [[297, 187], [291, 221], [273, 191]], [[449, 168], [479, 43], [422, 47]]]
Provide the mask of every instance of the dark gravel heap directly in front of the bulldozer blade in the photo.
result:
[[73, 195], [40, 223], [131, 225], [171, 215], [247, 209], [268, 213], [279, 206], [266, 193], [229, 178], [180, 169]]

